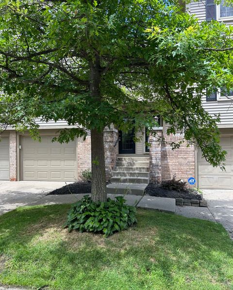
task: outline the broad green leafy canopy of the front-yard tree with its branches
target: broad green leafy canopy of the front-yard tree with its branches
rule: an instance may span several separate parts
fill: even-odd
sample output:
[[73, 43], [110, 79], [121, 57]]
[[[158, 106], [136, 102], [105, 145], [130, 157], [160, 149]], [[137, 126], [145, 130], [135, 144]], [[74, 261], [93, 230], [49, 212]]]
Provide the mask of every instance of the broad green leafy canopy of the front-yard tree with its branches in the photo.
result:
[[201, 97], [233, 88], [232, 49], [231, 26], [199, 23], [176, 0], [2, 0], [0, 123], [34, 137], [35, 118], [79, 124], [61, 130], [68, 142], [112, 123], [151, 129], [160, 115], [219, 166], [220, 119]]

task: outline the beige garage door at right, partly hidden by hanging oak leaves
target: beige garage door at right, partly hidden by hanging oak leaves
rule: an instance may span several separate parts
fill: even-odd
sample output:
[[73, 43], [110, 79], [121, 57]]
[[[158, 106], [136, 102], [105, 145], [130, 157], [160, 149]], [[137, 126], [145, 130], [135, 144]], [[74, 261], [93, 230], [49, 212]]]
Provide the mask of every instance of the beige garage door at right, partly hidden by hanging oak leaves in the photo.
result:
[[199, 187], [203, 189], [233, 189], [233, 136], [221, 137], [220, 144], [227, 151], [223, 172], [219, 167], [213, 167], [201, 158], [198, 150]]

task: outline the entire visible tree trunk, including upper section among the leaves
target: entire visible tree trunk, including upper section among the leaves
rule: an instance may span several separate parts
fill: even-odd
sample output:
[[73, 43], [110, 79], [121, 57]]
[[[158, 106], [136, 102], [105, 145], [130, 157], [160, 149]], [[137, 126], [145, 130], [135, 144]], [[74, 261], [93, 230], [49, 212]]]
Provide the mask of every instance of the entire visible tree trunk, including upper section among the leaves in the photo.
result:
[[[101, 102], [100, 96], [100, 58], [95, 56], [95, 61], [90, 64], [90, 96]], [[98, 123], [99, 116], [96, 115]], [[94, 202], [107, 201], [106, 181], [105, 181], [105, 160], [104, 160], [104, 144], [103, 144], [103, 129], [91, 129], [91, 171], [92, 171], [92, 186], [91, 198]]]

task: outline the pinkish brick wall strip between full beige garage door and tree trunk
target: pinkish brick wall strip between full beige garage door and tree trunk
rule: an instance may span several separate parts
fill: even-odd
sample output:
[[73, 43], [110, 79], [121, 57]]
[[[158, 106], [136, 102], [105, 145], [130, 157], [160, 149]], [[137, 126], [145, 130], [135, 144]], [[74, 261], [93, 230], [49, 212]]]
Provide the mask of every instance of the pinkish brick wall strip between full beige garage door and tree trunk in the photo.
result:
[[85, 141], [83, 138], [77, 140], [77, 179], [83, 170], [91, 170], [91, 136], [87, 135]]

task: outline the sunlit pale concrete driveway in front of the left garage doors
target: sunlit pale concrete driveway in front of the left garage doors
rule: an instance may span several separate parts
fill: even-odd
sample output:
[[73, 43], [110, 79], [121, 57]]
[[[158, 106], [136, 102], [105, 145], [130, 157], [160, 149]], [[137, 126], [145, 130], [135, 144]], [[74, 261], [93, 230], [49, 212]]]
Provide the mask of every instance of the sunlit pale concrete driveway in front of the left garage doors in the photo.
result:
[[0, 181], [0, 214], [38, 202], [50, 191], [64, 185], [64, 181]]

